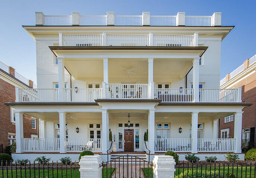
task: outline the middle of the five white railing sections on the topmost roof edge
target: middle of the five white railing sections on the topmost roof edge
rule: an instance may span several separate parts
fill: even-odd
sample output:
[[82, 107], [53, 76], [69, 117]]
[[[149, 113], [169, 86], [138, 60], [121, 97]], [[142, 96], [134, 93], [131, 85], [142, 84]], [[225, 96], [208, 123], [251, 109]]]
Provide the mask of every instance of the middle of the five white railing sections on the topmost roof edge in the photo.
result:
[[115, 25], [141, 26], [142, 16], [115, 16]]

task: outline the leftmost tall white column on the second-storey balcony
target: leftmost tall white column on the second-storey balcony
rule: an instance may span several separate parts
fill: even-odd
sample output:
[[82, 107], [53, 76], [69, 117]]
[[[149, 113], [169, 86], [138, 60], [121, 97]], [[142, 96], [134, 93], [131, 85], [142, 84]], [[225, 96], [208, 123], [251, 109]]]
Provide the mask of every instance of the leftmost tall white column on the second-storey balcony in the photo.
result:
[[63, 58], [58, 59], [58, 77], [59, 77], [59, 101], [63, 102], [65, 100], [64, 96], [64, 85], [65, 85], [65, 73], [64, 73], [64, 60]]

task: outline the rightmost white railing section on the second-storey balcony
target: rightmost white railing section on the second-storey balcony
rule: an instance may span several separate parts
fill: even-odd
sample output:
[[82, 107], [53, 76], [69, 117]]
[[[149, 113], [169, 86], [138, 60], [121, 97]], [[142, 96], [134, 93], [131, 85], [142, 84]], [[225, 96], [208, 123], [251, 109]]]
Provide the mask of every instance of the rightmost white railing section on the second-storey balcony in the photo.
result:
[[239, 102], [238, 96], [238, 89], [199, 89], [200, 102]]

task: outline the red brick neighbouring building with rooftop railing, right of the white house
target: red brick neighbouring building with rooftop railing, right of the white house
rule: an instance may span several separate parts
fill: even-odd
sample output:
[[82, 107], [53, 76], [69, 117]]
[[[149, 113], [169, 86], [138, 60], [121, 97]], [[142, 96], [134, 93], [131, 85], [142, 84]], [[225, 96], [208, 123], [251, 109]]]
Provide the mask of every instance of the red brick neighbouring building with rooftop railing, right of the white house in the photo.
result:
[[[256, 122], [256, 55], [244, 61], [240, 67], [227, 74], [220, 82], [220, 88], [242, 87], [242, 101], [252, 103], [243, 109], [242, 139], [255, 143]], [[234, 136], [234, 117], [219, 120], [219, 137]]]

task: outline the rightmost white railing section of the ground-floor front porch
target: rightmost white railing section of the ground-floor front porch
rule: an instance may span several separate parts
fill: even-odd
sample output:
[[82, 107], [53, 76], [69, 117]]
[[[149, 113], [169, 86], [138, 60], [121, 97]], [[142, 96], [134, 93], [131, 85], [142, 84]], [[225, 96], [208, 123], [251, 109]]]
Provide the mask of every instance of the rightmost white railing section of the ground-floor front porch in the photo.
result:
[[234, 152], [236, 139], [198, 139], [198, 152]]

